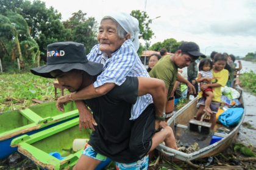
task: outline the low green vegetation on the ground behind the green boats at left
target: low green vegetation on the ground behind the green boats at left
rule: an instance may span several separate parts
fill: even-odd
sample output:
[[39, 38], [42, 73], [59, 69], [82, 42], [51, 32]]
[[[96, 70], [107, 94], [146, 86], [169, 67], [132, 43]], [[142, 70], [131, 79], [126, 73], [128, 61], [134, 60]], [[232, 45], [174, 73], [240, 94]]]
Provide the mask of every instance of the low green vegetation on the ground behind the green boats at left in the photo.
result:
[[0, 75], [0, 112], [34, 105], [32, 99], [54, 100], [53, 80], [32, 73]]

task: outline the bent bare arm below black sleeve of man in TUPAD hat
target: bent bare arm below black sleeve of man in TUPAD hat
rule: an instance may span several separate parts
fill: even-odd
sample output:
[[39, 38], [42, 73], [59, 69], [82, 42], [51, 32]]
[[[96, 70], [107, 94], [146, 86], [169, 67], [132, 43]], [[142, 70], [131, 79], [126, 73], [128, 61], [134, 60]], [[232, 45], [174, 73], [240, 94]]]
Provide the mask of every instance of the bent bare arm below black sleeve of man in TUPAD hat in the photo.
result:
[[147, 77], [138, 77], [138, 82], [138, 96], [151, 94], [155, 104], [155, 114], [162, 117], [166, 104], [165, 83], [157, 78]]

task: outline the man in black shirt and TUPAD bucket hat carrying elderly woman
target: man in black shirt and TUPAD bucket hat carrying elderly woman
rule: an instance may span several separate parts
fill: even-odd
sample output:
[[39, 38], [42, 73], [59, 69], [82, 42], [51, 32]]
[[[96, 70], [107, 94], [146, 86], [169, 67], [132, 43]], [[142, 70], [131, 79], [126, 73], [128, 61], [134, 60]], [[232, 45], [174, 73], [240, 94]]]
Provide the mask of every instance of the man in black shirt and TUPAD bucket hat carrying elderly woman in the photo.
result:
[[[87, 60], [83, 44], [56, 42], [49, 44], [46, 66], [30, 71], [45, 78], [57, 78], [69, 92], [90, 86], [102, 72], [102, 64]], [[71, 93], [72, 94], [72, 93]], [[69, 101], [73, 96], [69, 94]], [[132, 104], [138, 96], [151, 94], [162, 112], [151, 103], [136, 120], [129, 120]], [[162, 80], [146, 77], [126, 77], [121, 86], [115, 86], [101, 97], [83, 100], [93, 112], [97, 126], [88, 146], [74, 169], [94, 169], [107, 157], [116, 161], [119, 169], [148, 167], [148, 152], [165, 141], [166, 146], [177, 149], [171, 127], [162, 124], [155, 132], [156, 121], [164, 121], [165, 84]], [[155, 115], [158, 113], [158, 115]], [[165, 122], [165, 121], [164, 121]]]

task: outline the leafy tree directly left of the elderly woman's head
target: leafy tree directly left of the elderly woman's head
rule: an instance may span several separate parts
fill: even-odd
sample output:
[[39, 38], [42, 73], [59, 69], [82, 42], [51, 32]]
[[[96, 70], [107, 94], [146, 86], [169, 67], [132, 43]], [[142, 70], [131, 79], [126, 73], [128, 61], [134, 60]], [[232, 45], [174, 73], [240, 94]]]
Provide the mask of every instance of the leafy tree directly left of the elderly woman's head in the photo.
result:
[[87, 13], [79, 10], [73, 13], [71, 18], [63, 22], [66, 29], [71, 32], [71, 41], [80, 42], [85, 45], [87, 52], [97, 44], [97, 22], [94, 18], [86, 18]]

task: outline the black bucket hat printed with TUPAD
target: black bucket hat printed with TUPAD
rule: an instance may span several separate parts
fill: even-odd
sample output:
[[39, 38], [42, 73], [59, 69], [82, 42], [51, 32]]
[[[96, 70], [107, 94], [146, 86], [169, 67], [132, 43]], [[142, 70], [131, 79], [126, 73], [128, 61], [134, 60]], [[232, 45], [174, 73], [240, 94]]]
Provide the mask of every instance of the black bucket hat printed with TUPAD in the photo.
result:
[[46, 66], [30, 69], [34, 75], [45, 78], [54, 78], [50, 72], [60, 70], [84, 70], [89, 75], [98, 75], [102, 72], [103, 65], [88, 61], [85, 55], [84, 44], [78, 42], [55, 42], [47, 46]]

